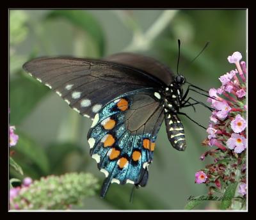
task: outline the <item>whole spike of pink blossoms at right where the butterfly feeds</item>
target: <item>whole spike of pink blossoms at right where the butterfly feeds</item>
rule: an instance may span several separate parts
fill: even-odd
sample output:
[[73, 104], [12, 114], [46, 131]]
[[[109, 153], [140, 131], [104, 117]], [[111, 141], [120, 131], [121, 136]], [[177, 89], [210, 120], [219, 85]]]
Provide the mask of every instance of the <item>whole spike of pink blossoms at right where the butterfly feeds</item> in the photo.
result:
[[[216, 146], [200, 156], [204, 161], [207, 155], [214, 157], [214, 163], [207, 164], [195, 174], [196, 184], [209, 186], [209, 194], [218, 189], [225, 189], [230, 183], [237, 181], [236, 173], [240, 173], [238, 193], [246, 194], [246, 65], [241, 61], [240, 52], [228, 56], [229, 63], [236, 65], [236, 70], [221, 75], [220, 88], [209, 90], [208, 102], [214, 109], [210, 116], [207, 139], [202, 143]], [[220, 193], [220, 192], [219, 192]]]

